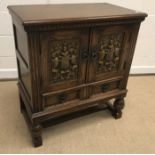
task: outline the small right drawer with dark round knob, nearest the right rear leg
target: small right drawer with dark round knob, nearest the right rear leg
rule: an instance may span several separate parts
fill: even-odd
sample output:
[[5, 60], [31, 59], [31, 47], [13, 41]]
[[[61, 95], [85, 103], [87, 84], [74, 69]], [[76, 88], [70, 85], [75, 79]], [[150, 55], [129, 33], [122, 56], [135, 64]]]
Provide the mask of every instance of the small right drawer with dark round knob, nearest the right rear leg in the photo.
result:
[[119, 86], [120, 86], [120, 80], [98, 84], [93, 86], [93, 94], [106, 93], [108, 91], [119, 89]]

